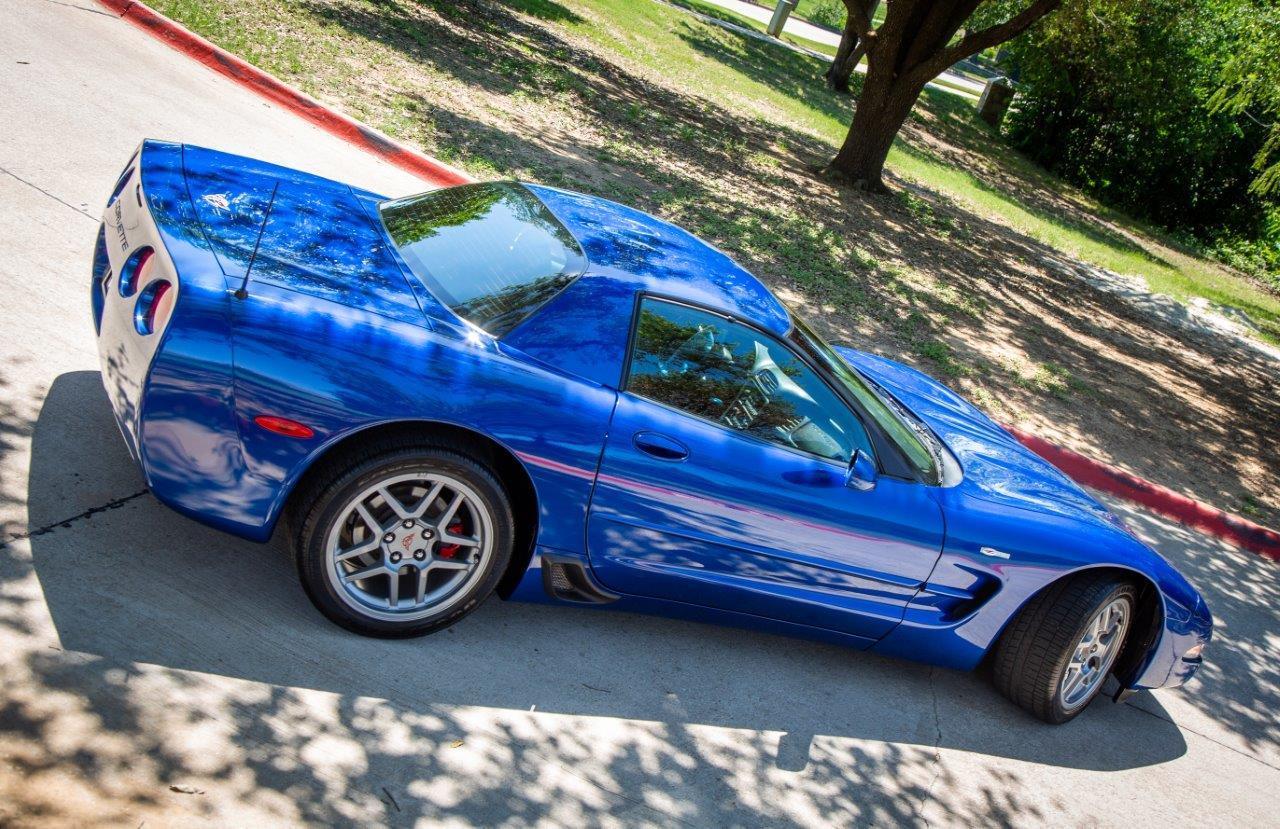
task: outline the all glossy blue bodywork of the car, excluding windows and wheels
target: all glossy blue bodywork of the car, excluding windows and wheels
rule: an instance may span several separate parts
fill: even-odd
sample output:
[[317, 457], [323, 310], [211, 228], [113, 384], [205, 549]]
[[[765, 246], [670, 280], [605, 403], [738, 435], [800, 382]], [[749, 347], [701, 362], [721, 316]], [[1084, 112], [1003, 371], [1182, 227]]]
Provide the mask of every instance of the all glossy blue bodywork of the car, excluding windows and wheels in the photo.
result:
[[[590, 265], [494, 340], [404, 266], [374, 193], [161, 142], [145, 142], [136, 164], [138, 203], [132, 179], [108, 207], [95, 257], [104, 383], [154, 494], [198, 521], [265, 540], [300, 477], [338, 441], [389, 423], [448, 423], [509, 452], [536, 491], [536, 549], [512, 597], [553, 600], [540, 573], [553, 555], [581, 562], [620, 596], [612, 608], [969, 668], [1038, 590], [1108, 567], [1149, 585], [1156, 608], [1123, 682], [1176, 684], [1198, 664], [1183, 655], [1208, 638], [1211, 618], [1190, 585], [916, 371], [841, 349], [950, 448], [963, 471], [955, 485], [882, 475], [859, 491], [842, 464], [618, 391], [640, 294], [778, 336], [791, 328], [763, 284], [684, 230], [530, 186]], [[179, 283], [172, 320], [150, 336], [125, 326], [131, 299], [100, 284], [143, 244]], [[253, 423], [261, 414], [315, 435], [270, 432]], [[640, 450], [652, 435], [678, 445], [655, 458]]]

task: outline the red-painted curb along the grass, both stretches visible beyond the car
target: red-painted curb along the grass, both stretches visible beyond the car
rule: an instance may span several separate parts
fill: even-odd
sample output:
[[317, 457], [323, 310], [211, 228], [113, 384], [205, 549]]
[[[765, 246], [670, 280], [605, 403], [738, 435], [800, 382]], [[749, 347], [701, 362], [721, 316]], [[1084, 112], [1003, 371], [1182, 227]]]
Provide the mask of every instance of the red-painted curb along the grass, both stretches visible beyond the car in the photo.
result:
[[[215, 46], [142, 3], [136, 0], [97, 0], [97, 3], [110, 9], [116, 17], [148, 32], [214, 72], [428, 183], [448, 187], [472, 180], [461, 170], [406, 147], [376, 129], [334, 111], [310, 95], [294, 90], [257, 67]], [[751, 35], [755, 33], [751, 32]], [[1084, 486], [1092, 486], [1132, 500], [1162, 516], [1215, 535], [1274, 562], [1280, 562], [1280, 532], [1275, 530], [1192, 500], [1158, 484], [1152, 484], [1012, 426], [1005, 426], [1005, 429], [1032, 452]]]

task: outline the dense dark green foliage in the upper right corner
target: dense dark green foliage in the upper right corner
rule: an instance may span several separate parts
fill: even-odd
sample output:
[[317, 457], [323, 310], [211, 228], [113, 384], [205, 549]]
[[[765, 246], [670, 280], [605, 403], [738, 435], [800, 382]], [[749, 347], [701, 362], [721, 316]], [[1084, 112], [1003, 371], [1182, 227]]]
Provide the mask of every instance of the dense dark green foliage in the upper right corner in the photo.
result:
[[1274, 0], [1076, 0], [1012, 41], [1002, 67], [1019, 82], [1015, 147], [1132, 215], [1211, 242], [1262, 239], [1275, 267]]

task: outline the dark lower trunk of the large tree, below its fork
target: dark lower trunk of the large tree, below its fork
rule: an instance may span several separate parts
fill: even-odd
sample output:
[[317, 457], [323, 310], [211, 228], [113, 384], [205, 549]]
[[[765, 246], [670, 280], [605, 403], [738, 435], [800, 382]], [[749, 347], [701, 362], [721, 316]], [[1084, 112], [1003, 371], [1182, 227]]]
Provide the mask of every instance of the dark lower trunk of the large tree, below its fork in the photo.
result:
[[858, 96], [854, 123], [840, 152], [831, 161], [831, 173], [859, 189], [886, 192], [888, 188], [882, 180], [884, 159], [923, 88], [923, 84], [895, 78], [890, 72], [878, 69], [873, 59], [863, 82], [863, 92]]

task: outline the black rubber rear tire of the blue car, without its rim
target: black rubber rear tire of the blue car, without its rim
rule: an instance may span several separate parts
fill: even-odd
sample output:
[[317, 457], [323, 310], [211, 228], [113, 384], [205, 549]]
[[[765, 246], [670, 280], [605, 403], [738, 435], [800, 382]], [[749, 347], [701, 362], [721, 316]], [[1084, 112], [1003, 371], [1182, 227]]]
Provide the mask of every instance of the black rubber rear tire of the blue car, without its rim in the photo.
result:
[[[383, 441], [364, 446], [360, 459], [347, 455], [335, 459], [311, 476], [306, 489], [293, 501], [289, 521], [294, 563], [307, 597], [330, 622], [380, 638], [425, 636], [447, 628], [475, 610], [493, 592], [511, 560], [515, 521], [506, 490], [489, 467], [477, 461], [465, 445], [422, 445], [403, 440]], [[370, 612], [353, 606], [353, 600], [339, 595], [328, 568], [334, 567], [328, 549], [329, 533], [342, 519], [346, 508], [370, 486], [403, 475], [444, 475], [463, 482], [488, 510], [492, 525], [492, 549], [483, 560], [481, 572], [467, 574], [467, 581], [449, 596], [448, 605], [438, 613], [412, 619], [374, 618]], [[340, 565], [339, 565], [340, 567]], [[392, 612], [384, 612], [393, 614]]]

